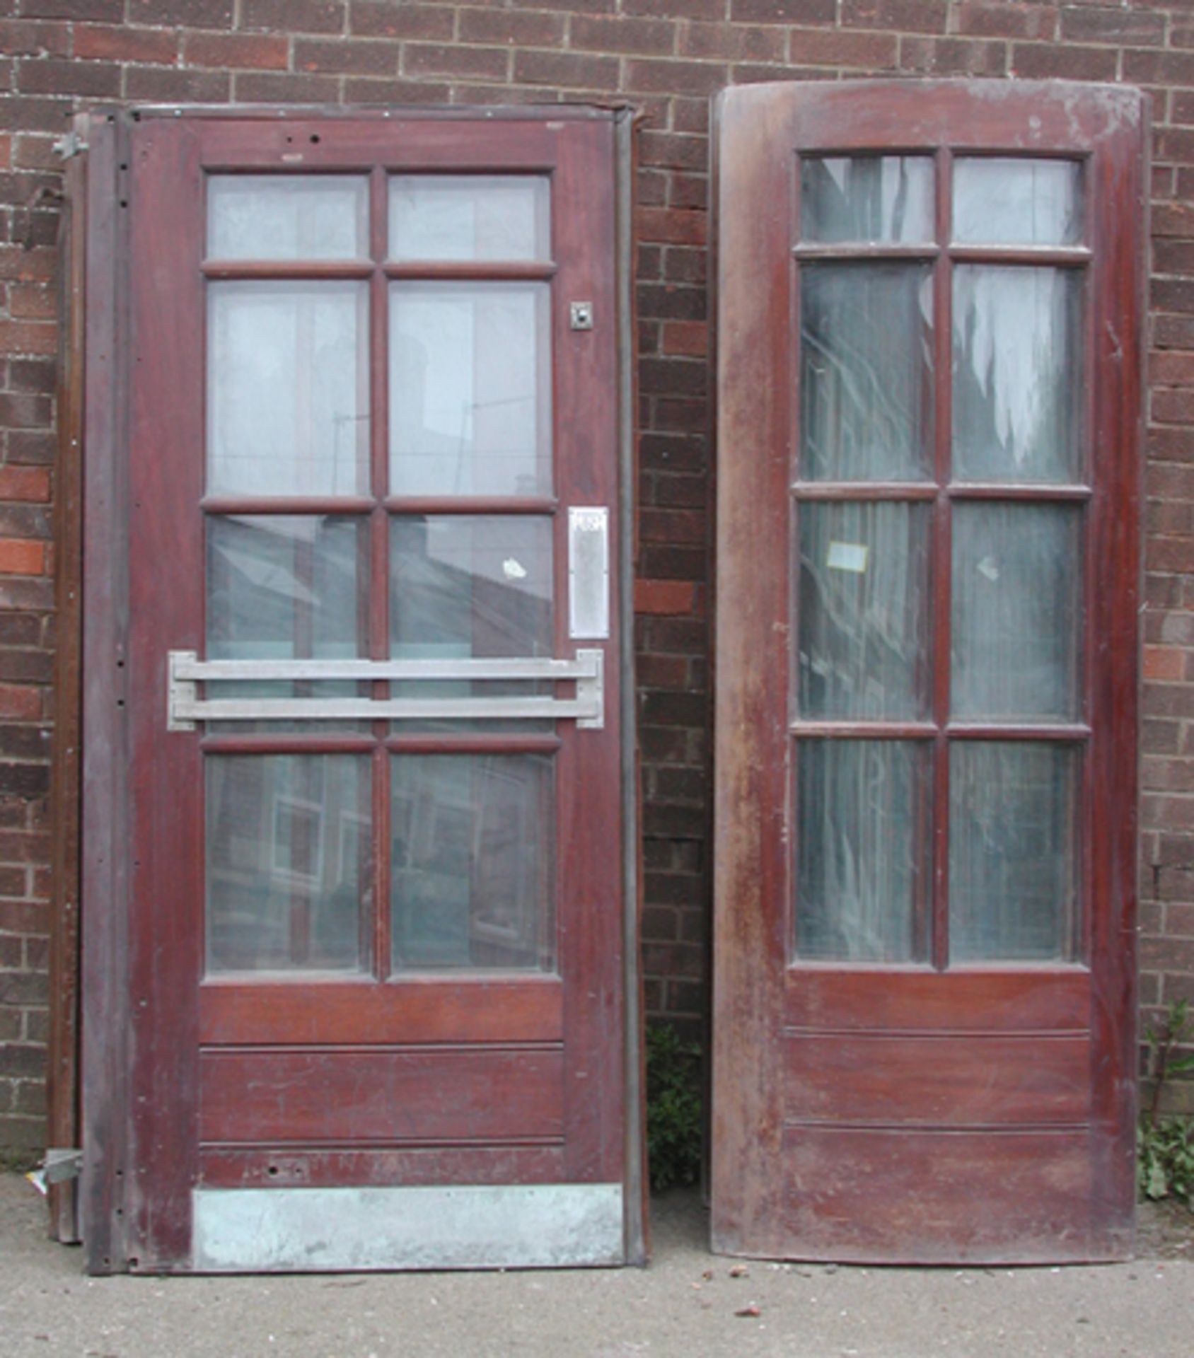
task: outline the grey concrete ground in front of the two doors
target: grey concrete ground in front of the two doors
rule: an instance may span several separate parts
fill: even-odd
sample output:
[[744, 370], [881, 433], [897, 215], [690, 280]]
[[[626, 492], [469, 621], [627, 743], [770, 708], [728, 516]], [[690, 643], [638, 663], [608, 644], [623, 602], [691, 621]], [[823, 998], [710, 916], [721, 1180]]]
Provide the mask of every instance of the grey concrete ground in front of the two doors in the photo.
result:
[[1194, 1217], [1142, 1213], [1098, 1268], [838, 1268], [710, 1255], [694, 1194], [655, 1207], [649, 1268], [86, 1278], [0, 1175], [3, 1358], [1190, 1358]]

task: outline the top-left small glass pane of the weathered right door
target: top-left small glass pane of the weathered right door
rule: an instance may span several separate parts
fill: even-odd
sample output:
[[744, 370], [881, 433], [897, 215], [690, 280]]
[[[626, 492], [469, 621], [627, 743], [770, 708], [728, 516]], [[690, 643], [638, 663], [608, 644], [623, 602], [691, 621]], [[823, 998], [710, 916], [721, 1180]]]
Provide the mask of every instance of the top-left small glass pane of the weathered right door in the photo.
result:
[[800, 162], [801, 239], [930, 242], [929, 156], [806, 156]]

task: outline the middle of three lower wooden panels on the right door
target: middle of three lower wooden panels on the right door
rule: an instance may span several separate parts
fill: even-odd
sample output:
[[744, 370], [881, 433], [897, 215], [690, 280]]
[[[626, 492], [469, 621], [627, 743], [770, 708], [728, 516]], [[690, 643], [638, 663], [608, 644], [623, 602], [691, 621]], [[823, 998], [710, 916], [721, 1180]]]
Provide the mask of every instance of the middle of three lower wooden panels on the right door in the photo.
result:
[[1080, 1123], [1088, 1038], [801, 1033], [786, 1039], [788, 1122]]

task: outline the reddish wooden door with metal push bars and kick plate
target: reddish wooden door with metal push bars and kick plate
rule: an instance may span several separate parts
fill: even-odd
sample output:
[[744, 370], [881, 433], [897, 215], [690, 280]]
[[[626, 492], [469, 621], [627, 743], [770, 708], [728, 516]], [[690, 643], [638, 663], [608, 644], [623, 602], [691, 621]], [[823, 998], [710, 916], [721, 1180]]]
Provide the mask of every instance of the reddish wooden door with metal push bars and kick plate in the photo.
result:
[[622, 136], [90, 129], [92, 1268], [641, 1251]]

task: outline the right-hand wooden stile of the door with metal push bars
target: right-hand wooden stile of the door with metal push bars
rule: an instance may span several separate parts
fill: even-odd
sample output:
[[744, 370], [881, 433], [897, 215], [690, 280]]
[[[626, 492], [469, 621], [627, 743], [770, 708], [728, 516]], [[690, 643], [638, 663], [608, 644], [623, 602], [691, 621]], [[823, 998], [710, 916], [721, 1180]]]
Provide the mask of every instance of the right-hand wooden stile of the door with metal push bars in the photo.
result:
[[[602, 398], [602, 392], [615, 391], [618, 382], [615, 202], [611, 175], [603, 172], [613, 164], [613, 125], [594, 124], [572, 136], [553, 175], [554, 201], [584, 202], [585, 208], [573, 213], [557, 209], [554, 215], [551, 342], [558, 356], [553, 364], [557, 494], [561, 504], [607, 507], [617, 520], [613, 512], [618, 505], [618, 459], [610, 452], [618, 447], [618, 417], [615, 405]], [[604, 191], [595, 193], [594, 185], [604, 185]], [[571, 330], [571, 303], [596, 299], [600, 303], [592, 330]], [[609, 543], [611, 600], [619, 589], [622, 531], [625, 526], [614, 521]], [[557, 655], [566, 655], [577, 645], [568, 636], [566, 539], [568, 515], [560, 512], [554, 521]], [[603, 1035], [618, 1031], [625, 1021], [622, 926], [619, 911], [611, 910], [595, 889], [607, 876], [602, 865], [621, 864], [625, 851], [619, 793], [621, 675], [617, 636], [592, 644], [600, 645], [606, 655], [606, 725], [603, 731], [579, 731], [569, 724], [561, 731], [557, 756], [557, 872], [566, 870], [575, 883], [568, 933], [560, 937], [564, 1044], [576, 1054], [565, 1069], [565, 1179], [621, 1183], [622, 1124], [614, 1127], [610, 1119], [614, 1109], [623, 1107], [625, 1069], [621, 1050], [603, 1040]], [[579, 744], [585, 740], [592, 747], [585, 754], [587, 775], [581, 778]]]

